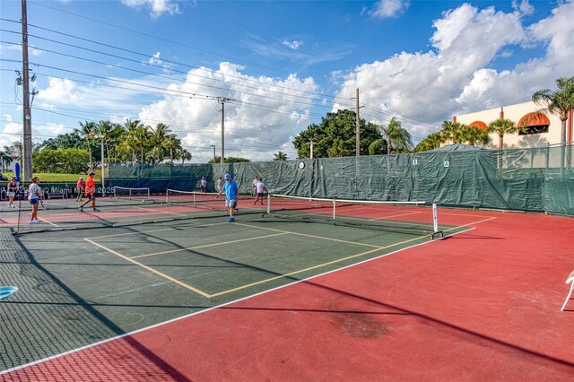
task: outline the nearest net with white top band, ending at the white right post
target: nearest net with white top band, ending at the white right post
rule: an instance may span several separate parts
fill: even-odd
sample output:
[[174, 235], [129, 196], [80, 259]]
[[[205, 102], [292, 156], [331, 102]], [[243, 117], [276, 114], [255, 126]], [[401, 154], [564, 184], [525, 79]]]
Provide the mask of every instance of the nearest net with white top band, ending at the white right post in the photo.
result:
[[442, 237], [437, 205], [270, 195], [267, 213], [297, 221], [327, 222], [375, 230]]

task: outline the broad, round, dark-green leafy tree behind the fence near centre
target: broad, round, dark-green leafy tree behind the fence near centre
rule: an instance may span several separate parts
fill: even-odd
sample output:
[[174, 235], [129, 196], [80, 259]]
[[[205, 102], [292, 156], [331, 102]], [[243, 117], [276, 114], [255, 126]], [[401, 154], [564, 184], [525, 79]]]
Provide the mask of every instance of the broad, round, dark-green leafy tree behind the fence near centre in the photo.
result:
[[[327, 113], [321, 124], [311, 124], [293, 140], [299, 158], [309, 158], [310, 142], [313, 141], [313, 156], [317, 158], [338, 157], [356, 154], [355, 112], [338, 110]], [[380, 139], [378, 126], [360, 120], [361, 152], [367, 153], [370, 143]]]

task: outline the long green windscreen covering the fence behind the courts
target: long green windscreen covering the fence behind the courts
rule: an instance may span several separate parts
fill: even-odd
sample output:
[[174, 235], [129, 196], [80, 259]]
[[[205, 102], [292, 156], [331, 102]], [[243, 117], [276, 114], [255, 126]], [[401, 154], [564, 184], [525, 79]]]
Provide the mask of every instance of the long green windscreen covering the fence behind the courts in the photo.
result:
[[241, 193], [256, 176], [270, 192], [327, 198], [429, 201], [445, 206], [574, 215], [571, 144], [486, 150], [464, 145], [430, 152], [295, 161], [141, 165], [116, 163], [110, 185], [194, 190], [202, 177], [215, 189], [229, 173]]

